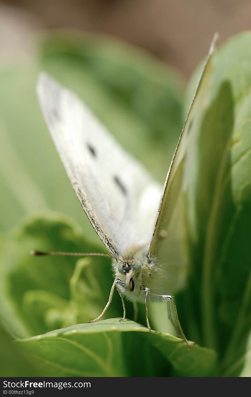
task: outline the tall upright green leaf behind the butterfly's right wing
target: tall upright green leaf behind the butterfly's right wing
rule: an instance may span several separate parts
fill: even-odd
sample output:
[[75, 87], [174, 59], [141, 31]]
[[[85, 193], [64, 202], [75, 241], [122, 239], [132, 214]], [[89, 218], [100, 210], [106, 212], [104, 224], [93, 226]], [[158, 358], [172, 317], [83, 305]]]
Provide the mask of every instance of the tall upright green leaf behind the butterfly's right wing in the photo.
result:
[[177, 301], [189, 338], [216, 349], [224, 373], [245, 354], [251, 329], [251, 33], [229, 40], [214, 63], [194, 157], [198, 238]]

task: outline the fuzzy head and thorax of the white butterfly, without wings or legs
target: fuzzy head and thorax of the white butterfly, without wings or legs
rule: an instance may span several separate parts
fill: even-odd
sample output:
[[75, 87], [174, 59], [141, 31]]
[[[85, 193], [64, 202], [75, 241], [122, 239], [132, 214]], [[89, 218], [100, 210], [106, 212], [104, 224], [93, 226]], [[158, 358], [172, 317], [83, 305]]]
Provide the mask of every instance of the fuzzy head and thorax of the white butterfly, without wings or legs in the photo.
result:
[[155, 261], [141, 250], [130, 249], [124, 252], [119, 260], [113, 260], [115, 277], [123, 281], [120, 285], [123, 295], [132, 302], [144, 302], [146, 293], [143, 288], [149, 288], [151, 280], [157, 274]]

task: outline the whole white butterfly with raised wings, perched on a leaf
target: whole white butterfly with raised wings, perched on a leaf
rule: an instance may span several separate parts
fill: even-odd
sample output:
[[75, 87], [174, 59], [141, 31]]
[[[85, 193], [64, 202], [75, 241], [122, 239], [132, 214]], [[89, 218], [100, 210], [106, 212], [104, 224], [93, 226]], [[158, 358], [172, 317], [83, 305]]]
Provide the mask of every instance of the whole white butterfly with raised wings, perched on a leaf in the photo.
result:
[[[38, 79], [40, 106], [59, 156], [86, 215], [111, 254], [107, 256], [113, 258], [115, 281], [109, 301], [100, 316], [90, 322], [103, 316], [116, 287], [124, 309], [121, 321], [126, 312], [124, 296], [132, 302], [144, 302], [150, 332], [148, 300], [166, 301], [169, 319], [188, 345], [173, 297], [167, 293], [180, 289], [186, 276], [184, 175], [189, 166], [187, 153], [198, 130], [200, 109], [207, 101], [215, 40], [216, 37], [162, 194], [159, 184], [119, 146], [75, 94], [46, 73], [41, 73]], [[91, 255], [38, 251], [33, 254]], [[170, 302], [178, 329], [171, 316]]]

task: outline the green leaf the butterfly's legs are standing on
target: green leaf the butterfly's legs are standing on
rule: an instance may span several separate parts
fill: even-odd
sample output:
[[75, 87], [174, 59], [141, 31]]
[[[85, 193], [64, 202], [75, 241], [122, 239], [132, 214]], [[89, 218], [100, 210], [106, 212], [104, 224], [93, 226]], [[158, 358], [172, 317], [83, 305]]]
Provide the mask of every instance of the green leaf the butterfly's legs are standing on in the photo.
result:
[[[78, 324], [17, 341], [41, 376], [208, 376], [213, 351], [125, 320]], [[157, 365], [156, 365], [157, 363]]]

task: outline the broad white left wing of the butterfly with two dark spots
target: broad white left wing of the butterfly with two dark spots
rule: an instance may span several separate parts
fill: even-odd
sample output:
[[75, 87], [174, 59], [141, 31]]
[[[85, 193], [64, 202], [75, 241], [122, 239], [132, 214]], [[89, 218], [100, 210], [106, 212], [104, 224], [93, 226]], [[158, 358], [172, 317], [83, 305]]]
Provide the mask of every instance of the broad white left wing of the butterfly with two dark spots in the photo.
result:
[[134, 243], [149, 246], [159, 185], [75, 94], [46, 73], [37, 93], [71, 184], [105, 247], [118, 256]]

